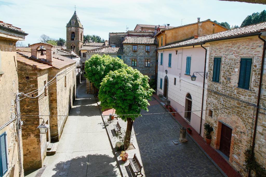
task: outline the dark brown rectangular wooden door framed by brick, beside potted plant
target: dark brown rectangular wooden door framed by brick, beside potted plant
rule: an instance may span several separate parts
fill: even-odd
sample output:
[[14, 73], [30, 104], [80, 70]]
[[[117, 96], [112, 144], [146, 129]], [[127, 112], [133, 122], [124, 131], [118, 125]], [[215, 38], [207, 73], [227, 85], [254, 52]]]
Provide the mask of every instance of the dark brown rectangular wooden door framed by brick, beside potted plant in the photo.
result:
[[220, 151], [224, 153], [227, 157], [229, 157], [230, 155], [231, 136], [232, 129], [227, 127], [225, 124], [222, 124]]

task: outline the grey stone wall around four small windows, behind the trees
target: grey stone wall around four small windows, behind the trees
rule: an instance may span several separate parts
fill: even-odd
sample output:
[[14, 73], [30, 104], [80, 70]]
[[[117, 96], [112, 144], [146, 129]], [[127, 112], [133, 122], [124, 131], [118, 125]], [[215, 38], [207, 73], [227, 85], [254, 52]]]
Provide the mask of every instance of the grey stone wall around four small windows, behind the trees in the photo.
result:
[[[132, 51], [132, 45], [137, 45], [137, 51]], [[124, 55], [123, 60], [128, 66], [139, 70], [143, 75], [155, 76], [155, 66], [156, 66], [156, 45], [149, 45], [150, 52], [146, 52], [146, 45], [139, 44], [124, 44]], [[137, 59], [137, 66], [132, 66], [132, 59]], [[150, 59], [150, 66], [145, 66], [145, 59]]]

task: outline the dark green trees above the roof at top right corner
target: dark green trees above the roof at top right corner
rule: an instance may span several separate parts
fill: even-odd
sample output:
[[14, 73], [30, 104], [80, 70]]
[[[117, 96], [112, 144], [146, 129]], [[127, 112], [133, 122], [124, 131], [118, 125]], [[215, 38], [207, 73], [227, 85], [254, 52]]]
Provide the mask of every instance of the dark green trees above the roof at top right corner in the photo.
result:
[[266, 21], [266, 10], [263, 10], [260, 13], [256, 12], [256, 13], [253, 13], [252, 15], [248, 15], [244, 19], [240, 27], [260, 23], [263, 21]]

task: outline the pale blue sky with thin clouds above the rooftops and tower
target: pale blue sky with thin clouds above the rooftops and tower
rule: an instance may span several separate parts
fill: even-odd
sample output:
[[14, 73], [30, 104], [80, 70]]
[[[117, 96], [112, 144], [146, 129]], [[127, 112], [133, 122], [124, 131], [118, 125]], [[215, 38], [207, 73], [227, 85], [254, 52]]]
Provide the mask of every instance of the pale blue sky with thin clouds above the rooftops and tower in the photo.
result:
[[0, 0], [0, 21], [28, 33], [25, 45], [39, 42], [41, 34], [66, 39], [66, 24], [76, 13], [84, 35], [108, 40], [109, 32], [133, 30], [136, 24], [180, 26], [200, 20], [217, 20], [241, 25], [246, 16], [261, 12], [266, 5], [219, 0]]

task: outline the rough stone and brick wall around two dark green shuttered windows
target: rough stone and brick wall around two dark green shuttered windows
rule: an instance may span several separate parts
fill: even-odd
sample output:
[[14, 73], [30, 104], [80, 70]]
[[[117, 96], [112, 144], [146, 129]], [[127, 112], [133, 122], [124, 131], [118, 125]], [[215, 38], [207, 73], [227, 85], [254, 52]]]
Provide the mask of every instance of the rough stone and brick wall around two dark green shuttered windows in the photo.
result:
[[[256, 104], [262, 50], [263, 42], [257, 36], [212, 42], [210, 44], [207, 109]], [[222, 58], [219, 83], [212, 81], [213, 59], [217, 56]], [[238, 88], [240, 58], [244, 57], [253, 58], [249, 90]], [[243, 166], [244, 151], [252, 143], [252, 128], [254, 127], [252, 127], [252, 122], [254, 122], [253, 119], [255, 118], [255, 113], [253, 113], [253, 106], [219, 109], [213, 110], [212, 116], [211, 114], [206, 114], [205, 119], [214, 128], [211, 146], [215, 149], [220, 148], [222, 123], [232, 128], [229, 163], [243, 176], [246, 175]], [[266, 122], [263, 117], [265, 119], [265, 115], [259, 116], [258, 127], [260, 128], [257, 129], [259, 133], [257, 133], [255, 156], [256, 160], [265, 167], [266, 150], [265, 130], [263, 130], [263, 127], [265, 127]]]

